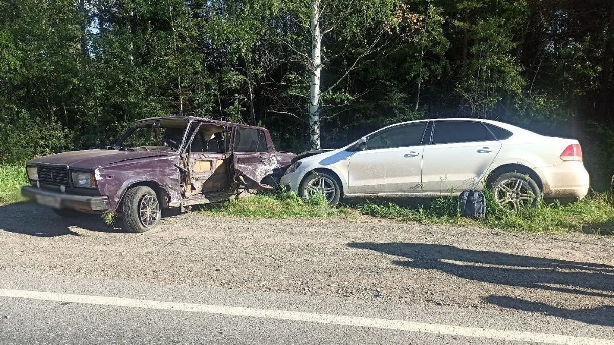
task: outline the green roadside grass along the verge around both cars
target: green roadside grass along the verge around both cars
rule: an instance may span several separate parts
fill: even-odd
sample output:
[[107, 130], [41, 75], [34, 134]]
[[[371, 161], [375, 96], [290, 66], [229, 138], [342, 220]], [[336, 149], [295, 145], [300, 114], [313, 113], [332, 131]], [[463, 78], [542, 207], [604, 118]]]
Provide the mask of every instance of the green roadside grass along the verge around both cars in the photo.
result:
[[[22, 201], [21, 186], [28, 184], [21, 163], [0, 164], [0, 203]], [[430, 204], [402, 206], [386, 201], [368, 201], [359, 206], [328, 207], [324, 198], [310, 201], [296, 193], [266, 193], [211, 204], [199, 212], [228, 217], [290, 219], [305, 217], [348, 217], [359, 212], [386, 219], [423, 224], [477, 226], [530, 232], [587, 231], [614, 235], [614, 203], [607, 193], [594, 193], [577, 203], [540, 204], [517, 213], [499, 207], [491, 195], [486, 195], [487, 218], [472, 220], [461, 217], [455, 198], [442, 197]], [[113, 223], [114, 214], [105, 221]]]

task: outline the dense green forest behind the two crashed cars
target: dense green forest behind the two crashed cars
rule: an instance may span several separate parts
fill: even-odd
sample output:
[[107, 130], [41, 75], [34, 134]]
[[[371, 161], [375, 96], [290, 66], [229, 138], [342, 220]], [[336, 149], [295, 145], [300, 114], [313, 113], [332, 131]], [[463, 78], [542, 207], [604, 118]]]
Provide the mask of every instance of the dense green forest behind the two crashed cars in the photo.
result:
[[294, 152], [491, 118], [579, 139], [609, 188], [614, 1], [0, 0], [0, 163], [179, 114]]

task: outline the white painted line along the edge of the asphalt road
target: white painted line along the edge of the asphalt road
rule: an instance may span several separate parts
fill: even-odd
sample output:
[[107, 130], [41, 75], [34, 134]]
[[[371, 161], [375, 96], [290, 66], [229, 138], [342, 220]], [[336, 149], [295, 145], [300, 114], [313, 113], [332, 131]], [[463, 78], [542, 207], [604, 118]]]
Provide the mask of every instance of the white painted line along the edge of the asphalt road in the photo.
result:
[[72, 295], [69, 293], [36, 292], [0, 289], [0, 297], [28, 298], [31, 300], [61, 301], [85, 304], [102, 304], [129, 308], [165, 309], [231, 316], [260, 317], [264, 319], [318, 322], [321, 324], [348, 325], [360, 327], [387, 328], [441, 335], [470, 336], [473, 338], [530, 341], [533, 343], [561, 345], [614, 345], [614, 340], [582, 338], [577, 336], [533, 333], [526, 331], [496, 330], [491, 328], [464, 327], [454, 325], [428, 324], [401, 320], [372, 319], [370, 317], [314, 314], [311, 312], [283, 311], [274, 309], [217, 306], [214, 304], [181, 303], [133, 298]]

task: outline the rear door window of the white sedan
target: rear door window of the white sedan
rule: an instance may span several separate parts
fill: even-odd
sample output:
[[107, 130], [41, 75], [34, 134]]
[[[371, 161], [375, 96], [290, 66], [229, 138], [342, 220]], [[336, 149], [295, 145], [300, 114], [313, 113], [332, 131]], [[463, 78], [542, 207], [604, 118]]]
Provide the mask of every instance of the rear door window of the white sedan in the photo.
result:
[[433, 144], [495, 140], [491, 132], [477, 121], [437, 121]]

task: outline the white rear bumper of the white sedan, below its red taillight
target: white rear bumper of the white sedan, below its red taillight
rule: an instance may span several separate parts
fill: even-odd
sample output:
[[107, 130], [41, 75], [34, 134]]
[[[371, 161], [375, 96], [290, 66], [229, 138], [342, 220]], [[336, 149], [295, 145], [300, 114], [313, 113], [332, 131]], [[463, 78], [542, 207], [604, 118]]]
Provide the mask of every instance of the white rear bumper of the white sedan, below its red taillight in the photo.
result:
[[588, 194], [591, 179], [581, 161], [564, 161], [535, 171], [542, 178], [546, 198], [581, 199]]

